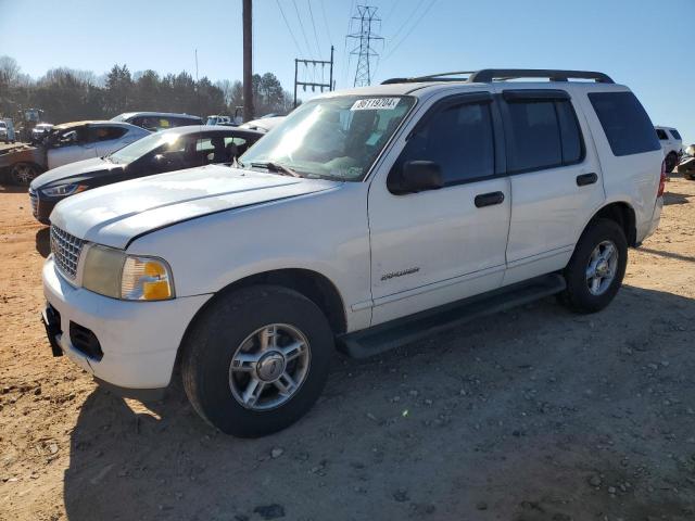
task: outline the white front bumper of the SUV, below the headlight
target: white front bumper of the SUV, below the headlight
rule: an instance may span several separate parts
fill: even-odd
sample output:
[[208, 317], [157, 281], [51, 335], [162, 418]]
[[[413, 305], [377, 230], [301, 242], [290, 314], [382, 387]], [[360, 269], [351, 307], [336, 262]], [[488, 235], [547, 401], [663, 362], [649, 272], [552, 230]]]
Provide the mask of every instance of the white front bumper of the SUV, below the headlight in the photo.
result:
[[[98, 381], [134, 397], [148, 391], [157, 394], [168, 385], [186, 328], [211, 296], [160, 302], [110, 298], [70, 284], [56, 271], [52, 256], [43, 265], [42, 277], [46, 300], [60, 316], [52, 344]], [[71, 322], [94, 334], [103, 352], [99, 359], [75, 346]], [[48, 328], [47, 333], [51, 340]]]

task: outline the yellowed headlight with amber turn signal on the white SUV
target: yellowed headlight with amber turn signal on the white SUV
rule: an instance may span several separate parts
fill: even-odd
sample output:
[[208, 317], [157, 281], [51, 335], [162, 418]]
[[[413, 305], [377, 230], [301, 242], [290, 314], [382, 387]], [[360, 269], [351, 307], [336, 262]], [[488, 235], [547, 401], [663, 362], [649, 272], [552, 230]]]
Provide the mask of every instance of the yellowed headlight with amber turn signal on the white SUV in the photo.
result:
[[127, 255], [121, 250], [90, 245], [85, 257], [83, 287], [124, 301], [174, 297], [172, 270], [162, 258]]

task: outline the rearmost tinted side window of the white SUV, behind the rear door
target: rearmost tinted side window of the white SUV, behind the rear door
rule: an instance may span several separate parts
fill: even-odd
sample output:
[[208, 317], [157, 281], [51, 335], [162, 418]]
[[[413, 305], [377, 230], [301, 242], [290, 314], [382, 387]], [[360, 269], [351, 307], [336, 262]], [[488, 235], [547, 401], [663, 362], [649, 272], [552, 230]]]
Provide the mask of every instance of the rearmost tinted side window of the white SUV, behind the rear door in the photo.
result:
[[632, 92], [592, 92], [589, 100], [614, 155], [661, 150], [649, 116]]

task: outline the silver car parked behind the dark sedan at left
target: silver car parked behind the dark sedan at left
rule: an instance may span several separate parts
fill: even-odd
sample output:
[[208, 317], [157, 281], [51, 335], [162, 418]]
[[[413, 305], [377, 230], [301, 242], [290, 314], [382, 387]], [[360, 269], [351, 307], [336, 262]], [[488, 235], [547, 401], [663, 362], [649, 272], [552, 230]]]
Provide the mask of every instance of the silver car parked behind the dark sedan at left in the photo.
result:
[[144, 128], [113, 120], [55, 125], [46, 143], [47, 167], [102, 157], [148, 135]]

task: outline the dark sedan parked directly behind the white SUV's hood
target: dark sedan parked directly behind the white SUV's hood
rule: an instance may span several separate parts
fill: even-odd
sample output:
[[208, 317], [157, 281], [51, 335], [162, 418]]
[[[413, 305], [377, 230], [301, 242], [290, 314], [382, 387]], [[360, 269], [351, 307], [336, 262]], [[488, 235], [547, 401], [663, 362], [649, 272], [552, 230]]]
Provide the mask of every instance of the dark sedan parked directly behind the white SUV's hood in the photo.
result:
[[232, 163], [265, 132], [223, 126], [187, 126], [147, 136], [101, 157], [40, 175], [29, 187], [34, 216], [49, 224], [53, 207], [85, 190], [213, 163]]

